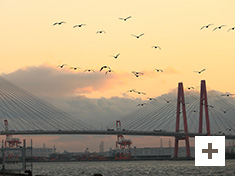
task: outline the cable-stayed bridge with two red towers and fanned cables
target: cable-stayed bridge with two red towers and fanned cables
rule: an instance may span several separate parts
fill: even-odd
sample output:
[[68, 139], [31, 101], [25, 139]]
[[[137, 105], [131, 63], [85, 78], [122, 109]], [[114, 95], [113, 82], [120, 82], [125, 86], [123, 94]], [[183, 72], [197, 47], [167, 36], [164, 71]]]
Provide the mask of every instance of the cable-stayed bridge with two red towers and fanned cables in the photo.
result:
[[[184, 93], [185, 92], [185, 93]], [[177, 95], [178, 94], [178, 95]], [[142, 104], [134, 112], [107, 124], [107, 130], [91, 130], [90, 125], [0, 77], [0, 134], [1, 135], [143, 135], [175, 137], [178, 140], [199, 135], [225, 136], [235, 139], [235, 100], [229, 94], [201, 90], [171, 92]], [[4, 128], [4, 120], [9, 130]], [[189, 142], [188, 142], [189, 143]], [[189, 148], [189, 144], [187, 144]], [[177, 156], [177, 154], [175, 154]], [[188, 154], [190, 156], [190, 153]]]

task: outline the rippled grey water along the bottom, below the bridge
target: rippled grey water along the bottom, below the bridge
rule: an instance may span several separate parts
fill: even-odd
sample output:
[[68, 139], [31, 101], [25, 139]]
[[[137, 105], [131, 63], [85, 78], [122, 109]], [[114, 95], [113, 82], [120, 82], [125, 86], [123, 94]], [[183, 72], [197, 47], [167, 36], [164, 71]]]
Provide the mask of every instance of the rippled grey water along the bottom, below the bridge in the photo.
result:
[[120, 161], [34, 163], [34, 174], [47, 176], [235, 176], [235, 160], [225, 167], [195, 167], [194, 161]]

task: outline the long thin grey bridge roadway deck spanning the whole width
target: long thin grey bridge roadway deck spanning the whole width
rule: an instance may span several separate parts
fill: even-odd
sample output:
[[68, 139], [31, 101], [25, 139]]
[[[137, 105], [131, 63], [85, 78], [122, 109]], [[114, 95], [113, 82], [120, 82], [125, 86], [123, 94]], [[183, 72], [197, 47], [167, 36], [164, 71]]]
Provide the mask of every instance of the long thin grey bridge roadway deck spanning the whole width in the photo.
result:
[[[135, 131], [135, 130], [26, 130], [26, 131], [14, 131], [9, 130], [0, 131], [0, 135], [131, 135], [131, 136], [169, 136], [183, 138], [188, 135], [189, 137], [206, 136], [207, 134], [199, 133], [184, 133], [173, 131]], [[211, 134], [211, 136], [224, 136], [224, 134]], [[235, 139], [235, 135], [225, 135], [226, 139]]]

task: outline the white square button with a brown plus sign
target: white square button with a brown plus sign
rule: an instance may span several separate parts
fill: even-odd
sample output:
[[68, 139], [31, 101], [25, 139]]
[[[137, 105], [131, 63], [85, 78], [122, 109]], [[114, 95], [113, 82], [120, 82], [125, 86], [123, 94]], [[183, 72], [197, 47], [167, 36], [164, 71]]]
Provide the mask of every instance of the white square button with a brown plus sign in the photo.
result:
[[225, 166], [225, 136], [195, 136], [195, 166]]

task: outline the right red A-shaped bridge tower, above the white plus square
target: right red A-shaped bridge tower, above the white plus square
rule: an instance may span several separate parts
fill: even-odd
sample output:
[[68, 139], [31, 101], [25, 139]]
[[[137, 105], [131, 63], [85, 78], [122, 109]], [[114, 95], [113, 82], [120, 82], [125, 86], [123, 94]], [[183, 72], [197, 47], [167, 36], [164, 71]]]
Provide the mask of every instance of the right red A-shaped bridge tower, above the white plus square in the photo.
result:
[[206, 91], [206, 81], [205, 80], [201, 80], [199, 133], [202, 133], [203, 106], [205, 107], [207, 135], [210, 136], [211, 131], [210, 131], [210, 120], [209, 120], [209, 112], [208, 112], [209, 105], [208, 105], [208, 101], [207, 101], [207, 91]]

